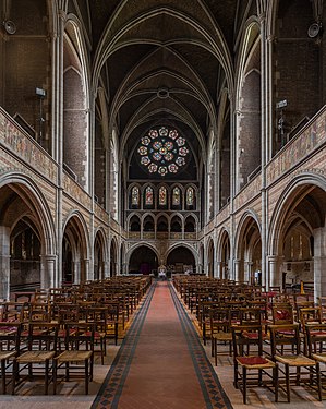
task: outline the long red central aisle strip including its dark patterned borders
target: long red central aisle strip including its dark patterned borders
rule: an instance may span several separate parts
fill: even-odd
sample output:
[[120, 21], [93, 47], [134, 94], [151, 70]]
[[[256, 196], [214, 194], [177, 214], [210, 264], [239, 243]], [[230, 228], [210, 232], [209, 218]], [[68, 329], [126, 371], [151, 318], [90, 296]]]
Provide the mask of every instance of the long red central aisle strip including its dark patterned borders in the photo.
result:
[[92, 409], [232, 408], [169, 281], [138, 310]]

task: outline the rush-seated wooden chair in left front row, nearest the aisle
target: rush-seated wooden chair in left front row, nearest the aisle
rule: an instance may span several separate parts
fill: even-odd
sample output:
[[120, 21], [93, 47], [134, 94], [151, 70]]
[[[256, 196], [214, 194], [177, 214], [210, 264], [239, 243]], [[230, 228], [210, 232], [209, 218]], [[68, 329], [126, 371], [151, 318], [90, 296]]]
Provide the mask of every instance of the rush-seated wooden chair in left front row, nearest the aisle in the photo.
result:
[[[70, 381], [73, 376], [85, 383], [88, 395], [94, 366], [94, 323], [65, 323], [65, 350], [55, 359], [53, 393], [57, 393], [58, 378]], [[63, 375], [61, 372], [63, 371]]]

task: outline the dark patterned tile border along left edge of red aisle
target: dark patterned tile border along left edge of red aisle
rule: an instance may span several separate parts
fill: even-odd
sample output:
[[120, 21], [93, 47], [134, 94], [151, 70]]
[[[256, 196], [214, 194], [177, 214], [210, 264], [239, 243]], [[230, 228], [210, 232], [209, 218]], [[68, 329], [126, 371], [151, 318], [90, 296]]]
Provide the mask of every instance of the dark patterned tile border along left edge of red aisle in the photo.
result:
[[156, 284], [150, 287], [147, 296], [145, 297], [143, 305], [135, 313], [136, 315], [121, 344], [110, 371], [108, 372], [97, 394], [97, 397], [92, 405], [92, 409], [118, 408], [122, 388], [138, 344], [138, 337], [142, 332], [155, 288]]

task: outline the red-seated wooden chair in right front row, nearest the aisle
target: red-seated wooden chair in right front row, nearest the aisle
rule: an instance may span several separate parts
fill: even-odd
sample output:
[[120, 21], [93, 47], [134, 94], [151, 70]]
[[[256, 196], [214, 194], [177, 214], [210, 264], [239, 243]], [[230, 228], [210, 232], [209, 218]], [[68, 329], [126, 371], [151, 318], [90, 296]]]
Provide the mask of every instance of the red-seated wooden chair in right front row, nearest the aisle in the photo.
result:
[[[231, 327], [233, 344], [234, 387], [240, 389], [246, 404], [249, 387], [268, 387], [278, 401], [278, 364], [263, 354], [261, 325], [237, 325]], [[247, 334], [255, 334], [249, 337]], [[249, 345], [255, 345], [255, 352], [245, 354]]]

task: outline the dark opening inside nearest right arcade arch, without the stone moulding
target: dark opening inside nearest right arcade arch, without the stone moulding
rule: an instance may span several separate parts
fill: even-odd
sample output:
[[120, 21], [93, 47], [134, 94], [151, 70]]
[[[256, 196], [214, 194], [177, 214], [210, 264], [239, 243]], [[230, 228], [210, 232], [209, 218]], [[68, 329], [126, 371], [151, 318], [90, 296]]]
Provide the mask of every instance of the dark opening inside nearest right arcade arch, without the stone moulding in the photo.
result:
[[279, 264], [270, 277], [273, 285], [297, 292], [303, 285], [315, 298], [325, 293], [325, 208], [326, 194], [318, 187], [302, 184], [291, 193], [276, 229]]

